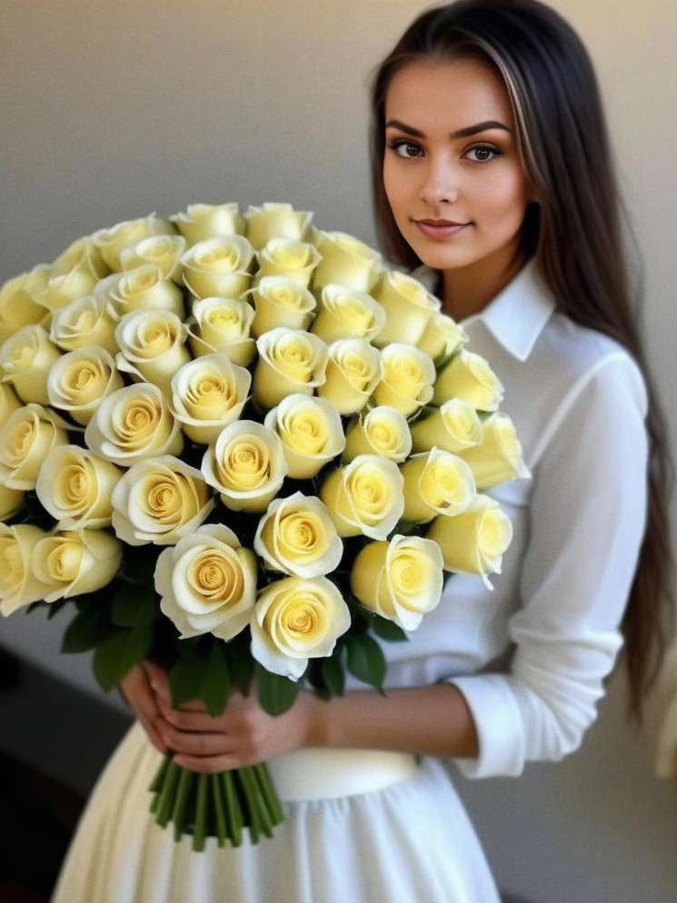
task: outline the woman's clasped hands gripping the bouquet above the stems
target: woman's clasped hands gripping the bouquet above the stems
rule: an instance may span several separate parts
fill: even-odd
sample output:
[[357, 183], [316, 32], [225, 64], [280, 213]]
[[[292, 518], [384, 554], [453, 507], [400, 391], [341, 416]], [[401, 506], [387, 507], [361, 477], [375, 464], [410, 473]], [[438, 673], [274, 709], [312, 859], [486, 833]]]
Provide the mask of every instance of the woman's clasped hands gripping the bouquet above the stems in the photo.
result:
[[[248, 697], [234, 690], [223, 715], [212, 717], [199, 699], [173, 708], [166, 671], [149, 661], [144, 661], [144, 668], [160, 714], [157, 719], [149, 717], [148, 707], [144, 708], [146, 723], [174, 750], [174, 761], [183, 768], [214, 774], [314, 745], [316, 707], [322, 700], [311, 692], [300, 692], [284, 715], [273, 716], [261, 707], [253, 684]], [[153, 741], [148, 727], [146, 731]]]

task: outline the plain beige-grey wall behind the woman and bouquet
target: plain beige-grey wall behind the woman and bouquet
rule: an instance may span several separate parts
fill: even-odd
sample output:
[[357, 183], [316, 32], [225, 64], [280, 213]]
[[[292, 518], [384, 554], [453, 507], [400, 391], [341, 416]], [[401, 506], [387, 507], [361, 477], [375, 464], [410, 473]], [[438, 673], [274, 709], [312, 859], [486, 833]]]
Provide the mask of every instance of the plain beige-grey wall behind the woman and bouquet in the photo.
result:
[[[677, 5], [552, 5], [598, 67], [674, 422]], [[198, 200], [286, 200], [318, 226], [374, 241], [366, 80], [426, 6], [0, 0], [0, 281], [95, 228]], [[92, 686], [84, 659], [58, 657], [57, 633], [15, 617], [0, 642], [38, 649], [45, 667]], [[677, 785], [652, 777], [657, 707], [635, 737], [623, 705], [617, 680], [561, 763], [517, 780], [457, 778], [504, 888], [534, 903], [673, 898]]]

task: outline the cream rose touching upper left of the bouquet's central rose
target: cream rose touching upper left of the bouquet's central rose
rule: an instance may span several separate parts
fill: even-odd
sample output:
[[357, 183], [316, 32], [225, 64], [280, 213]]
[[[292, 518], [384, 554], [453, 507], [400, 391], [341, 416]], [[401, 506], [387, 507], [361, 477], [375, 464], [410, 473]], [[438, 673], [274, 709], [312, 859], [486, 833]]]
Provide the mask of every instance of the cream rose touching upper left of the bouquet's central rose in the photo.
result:
[[251, 384], [249, 371], [227, 356], [198, 357], [172, 377], [169, 408], [186, 436], [208, 445], [242, 414]]

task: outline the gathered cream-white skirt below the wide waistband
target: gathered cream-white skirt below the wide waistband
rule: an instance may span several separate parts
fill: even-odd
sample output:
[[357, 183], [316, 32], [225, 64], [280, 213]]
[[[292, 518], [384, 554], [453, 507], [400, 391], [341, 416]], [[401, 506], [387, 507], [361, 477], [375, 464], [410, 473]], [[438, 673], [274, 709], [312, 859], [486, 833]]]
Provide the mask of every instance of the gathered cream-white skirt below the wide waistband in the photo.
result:
[[150, 815], [161, 758], [135, 722], [95, 784], [52, 903], [500, 903], [437, 758], [413, 759], [386, 787], [284, 801], [272, 838], [252, 844], [244, 830], [241, 847], [207, 838], [199, 853]]

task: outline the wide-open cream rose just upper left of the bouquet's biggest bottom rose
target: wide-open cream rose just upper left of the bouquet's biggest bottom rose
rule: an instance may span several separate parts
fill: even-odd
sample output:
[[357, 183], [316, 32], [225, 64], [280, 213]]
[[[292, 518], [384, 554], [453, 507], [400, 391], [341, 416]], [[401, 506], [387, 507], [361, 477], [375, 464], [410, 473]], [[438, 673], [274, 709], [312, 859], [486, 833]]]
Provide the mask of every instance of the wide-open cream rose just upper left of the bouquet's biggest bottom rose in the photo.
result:
[[130, 467], [111, 502], [115, 535], [128, 546], [174, 546], [204, 523], [215, 505], [202, 473], [172, 455]]

